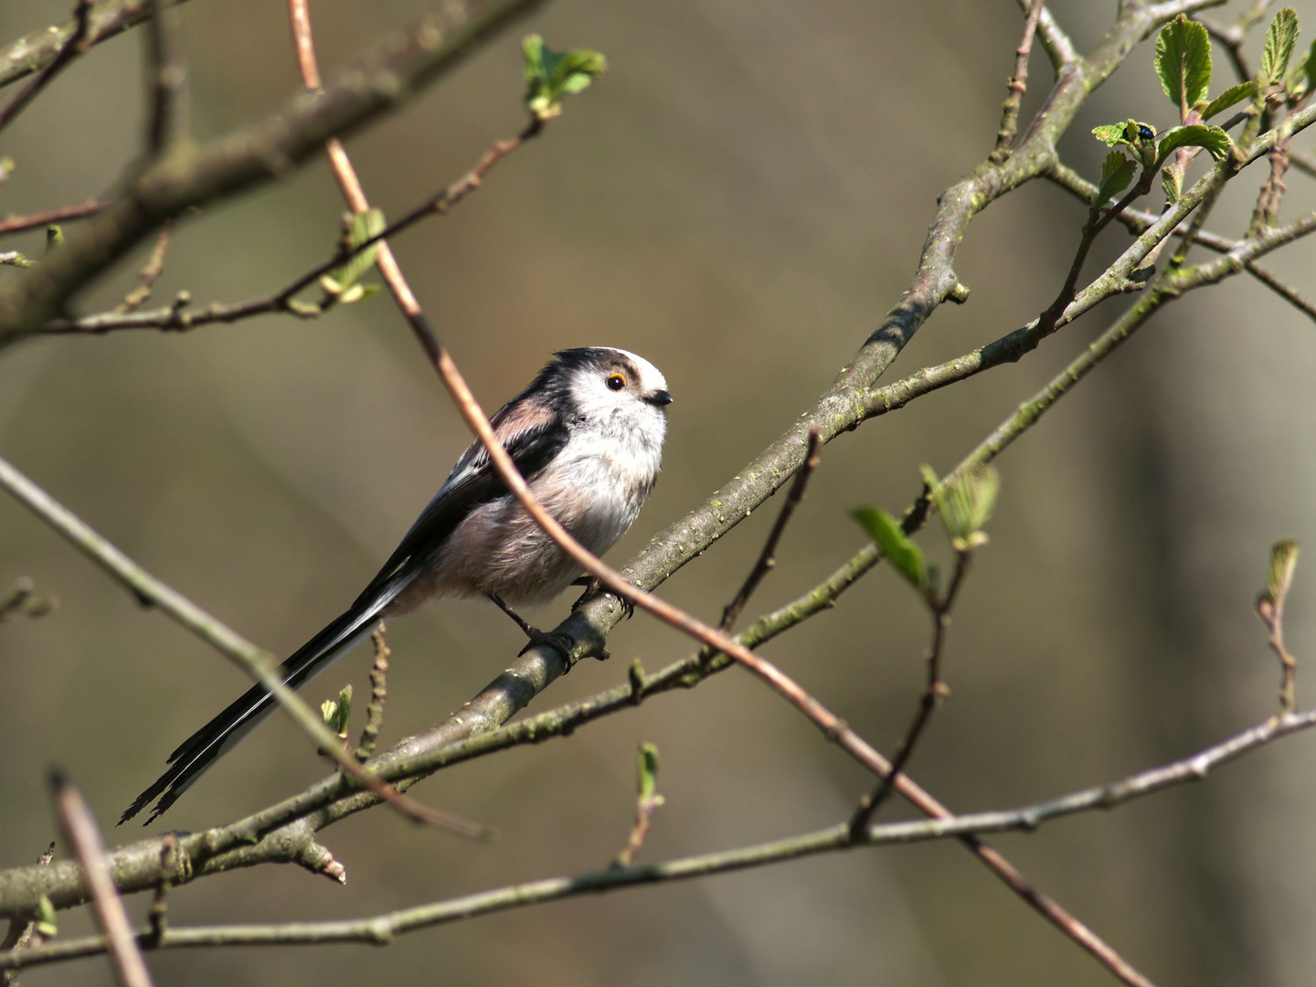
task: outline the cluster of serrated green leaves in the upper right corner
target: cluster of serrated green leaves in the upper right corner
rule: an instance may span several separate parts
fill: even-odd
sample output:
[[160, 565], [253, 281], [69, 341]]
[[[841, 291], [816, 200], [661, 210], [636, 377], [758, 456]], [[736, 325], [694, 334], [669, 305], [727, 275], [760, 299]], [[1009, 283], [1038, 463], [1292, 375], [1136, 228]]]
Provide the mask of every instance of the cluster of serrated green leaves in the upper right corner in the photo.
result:
[[[1115, 149], [1105, 155], [1101, 164], [1101, 180], [1094, 208], [1105, 207], [1128, 188], [1138, 164], [1148, 172], [1165, 167], [1161, 184], [1166, 199], [1170, 203], [1177, 201], [1183, 191], [1183, 171], [1191, 157], [1180, 154], [1166, 167], [1171, 154], [1199, 147], [1216, 161], [1221, 161], [1233, 149], [1233, 141], [1223, 128], [1204, 121], [1248, 99], [1274, 97], [1278, 93], [1283, 93], [1290, 103], [1304, 99], [1312, 88], [1316, 88], [1313, 83], [1316, 45], [1312, 45], [1312, 51], [1292, 63], [1296, 42], [1298, 14], [1286, 7], [1275, 14], [1266, 32], [1266, 46], [1257, 78], [1233, 86], [1212, 100], [1208, 99], [1211, 37], [1207, 29], [1183, 14], [1166, 24], [1155, 42], [1155, 72], [1161, 79], [1162, 91], [1179, 114], [1179, 126], [1173, 126], [1162, 134], [1157, 134], [1150, 124], [1138, 120], [1094, 128], [1094, 136]], [[1123, 147], [1128, 147], [1133, 157], [1129, 158]]]

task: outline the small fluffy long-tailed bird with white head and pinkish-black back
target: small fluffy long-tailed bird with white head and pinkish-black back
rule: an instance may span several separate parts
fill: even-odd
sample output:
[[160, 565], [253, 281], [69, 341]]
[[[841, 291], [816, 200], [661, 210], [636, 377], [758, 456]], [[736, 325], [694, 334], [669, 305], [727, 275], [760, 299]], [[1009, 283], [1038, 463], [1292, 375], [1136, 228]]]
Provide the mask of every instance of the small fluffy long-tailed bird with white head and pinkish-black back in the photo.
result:
[[[634, 522], [658, 479], [671, 404], [667, 380], [634, 353], [611, 346], [561, 350], [490, 422], [540, 503], [596, 555]], [[445, 596], [487, 597], [532, 642], [563, 646], [513, 605], [551, 600], [580, 570], [508, 491], [476, 440], [355, 603], [282, 666], [292, 688], [365, 638], [380, 617]], [[168, 769], [124, 812], [159, 796], [149, 825], [276, 703], [254, 686], [175, 750]]]

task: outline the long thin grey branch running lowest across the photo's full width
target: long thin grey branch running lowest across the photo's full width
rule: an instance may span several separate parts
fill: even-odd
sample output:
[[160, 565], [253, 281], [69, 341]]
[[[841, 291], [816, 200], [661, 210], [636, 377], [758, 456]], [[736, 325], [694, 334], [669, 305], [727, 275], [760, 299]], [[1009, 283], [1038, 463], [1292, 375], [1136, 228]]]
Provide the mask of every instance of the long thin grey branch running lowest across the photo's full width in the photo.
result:
[[[150, 929], [138, 930], [146, 948], [190, 949], [236, 945], [317, 945], [326, 942], [363, 942], [386, 945], [395, 936], [434, 925], [462, 921], [525, 905], [557, 901], [587, 894], [653, 884], [690, 878], [726, 874], [749, 867], [800, 859], [819, 853], [858, 846], [888, 846], [930, 840], [965, 838], [1009, 830], [1033, 832], [1046, 822], [1082, 812], [1105, 811], [1116, 805], [1165, 791], [1188, 782], [1198, 782], [1230, 761], [1250, 754], [1282, 737], [1316, 726], [1316, 709], [1283, 713], [1244, 730], [1229, 740], [1200, 750], [1180, 761], [1132, 775], [1112, 784], [1096, 786], [1062, 795], [1048, 801], [1015, 809], [976, 812], [945, 820], [887, 822], [865, 830], [855, 842], [845, 822], [815, 833], [758, 844], [736, 850], [684, 857], [644, 867], [612, 867], [575, 878], [551, 878], [525, 884], [484, 891], [475, 895], [437, 901], [378, 915], [370, 919], [326, 923], [291, 923], [280, 925], [216, 925], [170, 928], [153, 942]], [[0, 955], [0, 970], [17, 970], [105, 951], [103, 937], [87, 937], [42, 946], [24, 953]]]

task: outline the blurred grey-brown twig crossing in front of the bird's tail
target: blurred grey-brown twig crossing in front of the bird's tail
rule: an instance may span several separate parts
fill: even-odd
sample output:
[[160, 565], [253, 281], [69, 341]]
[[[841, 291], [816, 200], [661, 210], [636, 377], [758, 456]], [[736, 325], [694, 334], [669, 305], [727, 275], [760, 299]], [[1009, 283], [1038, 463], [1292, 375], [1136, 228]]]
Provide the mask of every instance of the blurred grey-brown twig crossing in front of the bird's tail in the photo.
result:
[[180, 592], [153, 576], [3, 458], [0, 458], [0, 487], [54, 528], [108, 575], [122, 583], [142, 605], [157, 607], [257, 679], [270, 691], [279, 707], [292, 717], [293, 722], [317, 745], [329, 750], [338, 767], [351, 775], [357, 783], [366, 786], [393, 808], [417, 821], [441, 825], [463, 836], [488, 837], [487, 828], [421, 805], [393, 791], [387, 782], [365, 771], [357, 759], [343, 751], [341, 744], [336, 742], [324, 720], [316, 716], [311, 707], [284, 684], [272, 654], [257, 647]]

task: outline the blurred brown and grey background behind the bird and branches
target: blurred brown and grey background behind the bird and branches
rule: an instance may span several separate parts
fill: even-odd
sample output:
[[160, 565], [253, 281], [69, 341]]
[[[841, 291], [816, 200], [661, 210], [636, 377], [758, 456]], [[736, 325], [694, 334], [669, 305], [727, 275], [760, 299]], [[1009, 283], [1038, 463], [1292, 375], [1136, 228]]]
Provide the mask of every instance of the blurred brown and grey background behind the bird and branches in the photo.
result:
[[[0, 38], [59, 22], [68, 7], [0, 5]], [[324, 68], [425, 7], [317, 0]], [[1295, 7], [1305, 49], [1316, 3]], [[1083, 47], [1113, 8], [1053, 7]], [[183, 21], [199, 138], [275, 109], [297, 87], [279, 0], [193, 0]], [[1020, 25], [1013, 0], [561, 0], [349, 150], [371, 196], [399, 215], [519, 128], [522, 33], [608, 55], [608, 78], [572, 99], [542, 139], [396, 249], [488, 408], [563, 346], [625, 346], [666, 371], [676, 404], [663, 478], [611, 554], [620, 562], [788, 425], [895, 301], [934, 197], [991, 147]], [[0, 211], [79, 201], [113, 184], [141, 146], [142, 41], [137, 32], [95, 49], [4, 134], [0, 151], [18, 170]], [[1216, 62], [1220, 91], [1233, 79], [1223, 54]], [[1050, 83], [1040, 54], [1032, 79], [1025, 118]], [[1079, 114], [1066, 159], [1095, 174], [1101, 149], [1090, 128], [1126, 116], [1173, 122], [1150, 42]], [[1212, 226], [1236, 234], [1259, 180], [1240, 182], [1249, 191]], [[1311, 179], [1294, 174], [1290, 186], [1286, 213], [1312, 208]], [[324, 257], [341, 209], [321, 163], [208, 209], [176, 233], [157, 299], [182, 288], [200, 303], [274, 290]], [[994, 205], [961, 253], [971, 301], [938, 311], [896, 371], [1036, 315], [1063, 278], [1082, 220], [1041, 182]], [[1124, 243], [1112, 229], [1101, 257]], [[39, 253], [39, 237], [13, 246]], [[145, 253], [87, 292], [84, 311], [112, 305]], [[1312, 257], [1300, 245], [1273, 266], [1309, 287]], [[1019, 366], [833, 443], [751, 612], [849, 557], [862, 537], [846, 508], [901, 508], [919, 463], [953, 465], [1123, 304]], [[1158, 316], [1003, 457], [992, 542], [955, 615], [954, 692], [913, 763], [936, 795], [965, 811], [1046, 797], [1186, 754], [1273, 709], [1278, 672], [1252, 601], [1274, 540], [1316, 545], [1313, 359], [1312, 325], [1238, 278]], [[151, 571], [280, 653], [355, 595], [467, 441], [387, 297], [316, 322], [37, 341], [0, 358], [0, 453]], [[757, 512], [662, 592], [715, 617], [774, 513], [775, 503]], [[933, 530], [923, 542], [941, 549]], [[1288, 608], [1302, 658], [1316, 647], [1313, 571], [1313, 559], [1299, 565]], [[247, 684], [0, 497], [0, 588], [21, 575], [61, 607], [0, 626], [3, 866], [34, 859], [54, 836], [50, 765], [74, 776], [108, 824], [174, 745]], [[551, 626], [567, 603], [540, 622]], [[386, 742], [443, 717], [521, 645], [509, 621], [474, 604], [397, 621], [390, 641]], [[883, 569], [766, 653], [890, 749], [913, 711], [925, 641], [925, 615]], [[619, 628], [611, 647], [611, 663], [579, 666], [534, 708], [624, 680], [636, 655], [657, 667], [691, 650], [644, 616]], [[365, 650], [353, 654], [307, 699], [318, 703], [349, 680], [361, 695], [367, 666]], [[1300, 694], [1312, 695], [1309, 683], [1299, 680]], [[376, 811], [325, 833], [347, 866], [345, 888], [293, 867], [236, 873], [178, 891], [171, 921], [363, 916], [603, 866], [625, 840], [634, 747], [646, 740], [662, 751], [667, 804], [641, 859], [828, 825], [867, 786], [812, 726], [732, 671], [417, 790], [496, 826], [494, 846]], [[1302, 736], [1205, 784], [995, 842], [1158, 982], [1307, 984], [1316, 965], [1313, 753], [1316, 737]], [[324, 774], [276, 717], [166, 821], [232, 820]], [[896, 813], [909, 815], [887, 809]], [[142, 913], [145, 899], [130, 908]], [[62, 916], [64, 936], [88, 928], [84, 915]], [[519, 911], [382, 951], [178, 951], [150, 965], [162, 984], [1111, 982], [953, 844]], [[22, 980], [99, 984], [109, 969], [86, 961]]]

